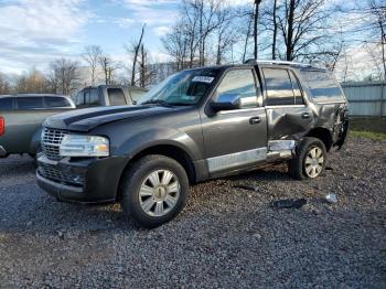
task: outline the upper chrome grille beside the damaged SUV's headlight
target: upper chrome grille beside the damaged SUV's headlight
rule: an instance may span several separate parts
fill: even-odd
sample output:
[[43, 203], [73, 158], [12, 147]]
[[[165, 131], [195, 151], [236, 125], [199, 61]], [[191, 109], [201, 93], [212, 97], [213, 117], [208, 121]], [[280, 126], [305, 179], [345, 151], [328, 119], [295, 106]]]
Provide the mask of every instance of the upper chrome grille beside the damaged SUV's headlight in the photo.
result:
[[64, 130], [44, 128], [42, 133], [42, 150], [44, 154], [50, 160], [60, 160], [60, 146], [64, 138], [67, 135]]

